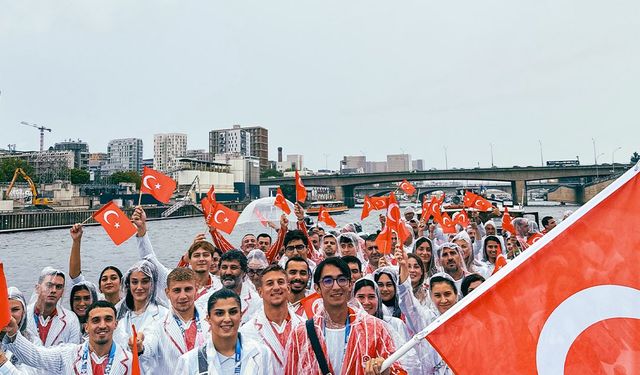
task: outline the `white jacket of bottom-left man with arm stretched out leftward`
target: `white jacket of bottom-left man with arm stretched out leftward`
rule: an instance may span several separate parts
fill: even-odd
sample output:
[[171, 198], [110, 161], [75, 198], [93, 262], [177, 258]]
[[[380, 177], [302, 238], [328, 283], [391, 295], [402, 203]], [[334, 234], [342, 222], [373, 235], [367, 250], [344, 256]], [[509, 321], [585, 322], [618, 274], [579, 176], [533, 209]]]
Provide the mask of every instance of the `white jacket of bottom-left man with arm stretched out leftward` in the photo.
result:
[[[82, 356], [86, 345], [88, 345], [88, 342], [43, 348], [32, 344], [19, 333], [15, 341], [8, 344], [7, 347], [24, 364], [42, 369], [46, 374], [76, 375], [81, 373]], [[131, 353], [123, 350], [115, 342], [114, 345], [116, 345], [116, 351], [110, 375], [129, 374], [131, 371]], [[88, 361], [90, 362], [90, 360]], [[92, 375], [91, 363], [87, 364], [86, 370], [86, 374]]]

